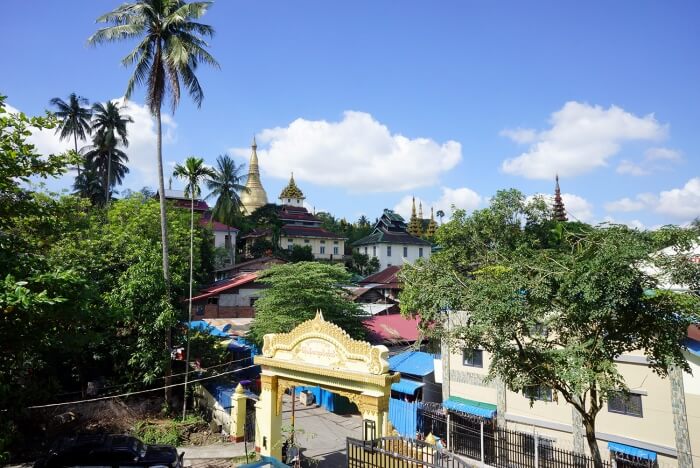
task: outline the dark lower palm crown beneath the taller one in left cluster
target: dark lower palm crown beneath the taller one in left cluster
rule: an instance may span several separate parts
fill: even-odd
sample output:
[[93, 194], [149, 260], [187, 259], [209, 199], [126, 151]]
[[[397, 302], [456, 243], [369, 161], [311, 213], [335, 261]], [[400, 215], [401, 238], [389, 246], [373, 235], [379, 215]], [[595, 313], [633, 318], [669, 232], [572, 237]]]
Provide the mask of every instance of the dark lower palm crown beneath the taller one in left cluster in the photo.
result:
[[92, 145], [81, 149], [85, 164], [93, 165], [100, 175], [103, 199], [106, 203], [109, 202], [110, 191], [104, 190], [105, 183], [108, 188], [121, 185], [124, 177], [129, 173], [129, 168], [126, 166], [129, 157], [116, 147], [116, 143], [115, 139], [109, 139], [107, 135], [97, 133], [92, 139]]

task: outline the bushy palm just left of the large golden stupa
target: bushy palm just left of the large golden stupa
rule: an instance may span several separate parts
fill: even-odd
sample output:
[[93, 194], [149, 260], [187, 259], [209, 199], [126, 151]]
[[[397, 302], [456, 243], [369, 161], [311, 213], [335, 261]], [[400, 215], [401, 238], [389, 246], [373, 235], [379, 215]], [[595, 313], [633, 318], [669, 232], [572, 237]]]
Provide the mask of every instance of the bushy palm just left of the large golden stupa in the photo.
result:
[[217, 197], [212, 218], [228, 226], [229, 258], [233, 264], [235, 246], [231, 242], [231, 225], [240, 212], [239, 193], [247, 192], [248, 188], [243, 185], [243, 164], [236, 166], [231, 156], [222, 154], [216, 158], [216, 166], [214, 176], [207, 181], [207, 187], [211, 190], [207, 198]]

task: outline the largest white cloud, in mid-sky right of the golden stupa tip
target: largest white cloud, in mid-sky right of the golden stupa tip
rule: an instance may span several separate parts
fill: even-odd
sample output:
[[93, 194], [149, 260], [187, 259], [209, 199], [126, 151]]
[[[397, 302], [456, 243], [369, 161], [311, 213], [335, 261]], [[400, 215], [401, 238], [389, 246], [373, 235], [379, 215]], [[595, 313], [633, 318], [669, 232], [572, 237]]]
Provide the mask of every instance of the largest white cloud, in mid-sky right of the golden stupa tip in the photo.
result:
[[[456, 141], [407, 138], [365, 112], [347, 111], [338, 122], [297, 119], [258, 135], [262, 170], [277, 178], [349, 191], [397, 192], [438, 183], [462, 159]], [[232, 152], [248, 157], [249, 149]]]

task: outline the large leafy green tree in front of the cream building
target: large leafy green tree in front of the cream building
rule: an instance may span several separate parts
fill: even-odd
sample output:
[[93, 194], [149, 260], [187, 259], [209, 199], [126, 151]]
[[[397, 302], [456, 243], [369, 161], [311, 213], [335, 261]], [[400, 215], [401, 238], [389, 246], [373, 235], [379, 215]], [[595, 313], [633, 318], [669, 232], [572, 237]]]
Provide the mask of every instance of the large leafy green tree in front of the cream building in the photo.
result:
[[[690, 246], [689, 232], [674, 232], [677, 248]], [[561, 395], [581, 415], [598, 466], [596, 416], [627, 390], [615, 358], [642, 350], [661, 375], [688, 369], [683, 340], [700, 318], [697, 298], [663, 292], [640, 267], [664, 257], [650, 256], [642, 233], [553, 221], [542, 200], [511, 190], [470, 216], [457, 210], [437, 240], [440, 252], [402, 270], [402, 311], [419, 311], [434, 325], [426, 333], [453, 348], [489, 352], [489, 378], [510, 390]]]

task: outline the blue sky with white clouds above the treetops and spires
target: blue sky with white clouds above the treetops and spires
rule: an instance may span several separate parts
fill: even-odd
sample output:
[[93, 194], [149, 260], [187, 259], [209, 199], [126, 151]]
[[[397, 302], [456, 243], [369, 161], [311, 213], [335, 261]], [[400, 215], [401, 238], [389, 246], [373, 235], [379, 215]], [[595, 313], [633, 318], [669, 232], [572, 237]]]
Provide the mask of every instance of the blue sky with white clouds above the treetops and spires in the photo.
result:
[[[131, 44], [86, 45], [119, 3], [5, 5], [8, 103], [122, 96]], [[200, 69], [201, 109], [183, 99], [168, 118], [165, 158], [247, 162], [256, 135], [270, 199], [293, 170], [310, 206], [349, 219], [405, 213], [413, 195], [427, 214], [551, 193], [558, 172], [573, 217], [684, 223], [700, 216], [699, 20], [694, 1], [219, 0], [203, 21], [221, 70]], [[155, 186], [142, 104], [128, 107], [135, 189]]]

